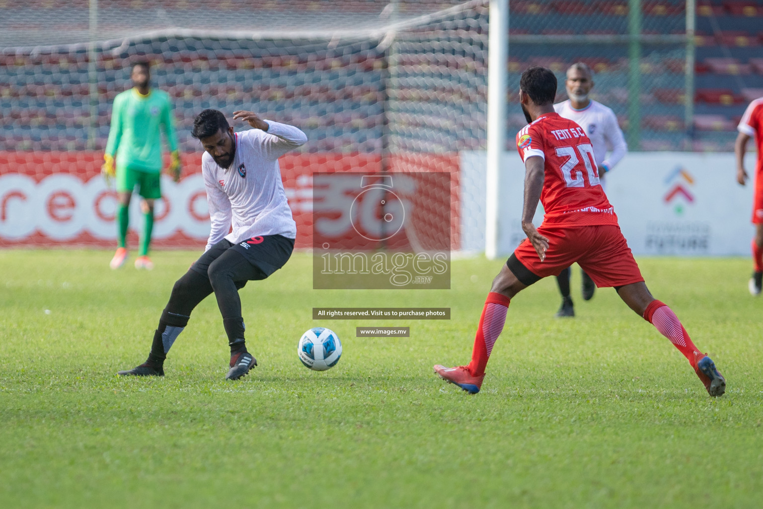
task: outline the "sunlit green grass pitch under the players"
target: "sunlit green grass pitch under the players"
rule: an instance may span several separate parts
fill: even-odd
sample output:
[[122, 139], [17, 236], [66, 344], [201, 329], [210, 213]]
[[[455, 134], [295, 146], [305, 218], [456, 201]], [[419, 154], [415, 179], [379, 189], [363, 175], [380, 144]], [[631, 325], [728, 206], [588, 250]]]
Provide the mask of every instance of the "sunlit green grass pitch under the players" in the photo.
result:
[[[748, 259], [639, 259], [647, 284], [726, 376], [684, 357], [610, 289], [559, 320], [555, 282], [514, 298], [480, 394], [436, 378], [468, 361], [501, 261], [452, 263], [449, 291], [314, 291], [295, 253], [241, 292], [259, 367], [226, 382], [214, 298], [163, 379], [146, 357], [198, 253], [108, 269], [103, 251], [0, 251], [0, 507], [760, 507], [761, 299]], [[449, 321], [312, 321], [315, 307], [449, 307]], [[296, 355], [340, 334], [328, 372]], [[356, 338], [360, 325], [409, 338]]]

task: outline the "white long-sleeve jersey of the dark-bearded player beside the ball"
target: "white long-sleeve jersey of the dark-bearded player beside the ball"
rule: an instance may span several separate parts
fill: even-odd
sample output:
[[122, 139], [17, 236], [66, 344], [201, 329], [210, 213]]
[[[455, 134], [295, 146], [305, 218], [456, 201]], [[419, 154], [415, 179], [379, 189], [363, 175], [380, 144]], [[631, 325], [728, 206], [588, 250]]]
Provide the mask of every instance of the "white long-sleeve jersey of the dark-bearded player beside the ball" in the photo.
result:
[[207, 152], [201, 156], [212, 224], [206, 250], [224, 238], [235, 244], [258, 235], [297, 237], [278, 157], [303, 145], [307, 136], [297, 127], [266, 122], [267, 132], [250, 129], [234, 135], [230, 168], [217, 166]]

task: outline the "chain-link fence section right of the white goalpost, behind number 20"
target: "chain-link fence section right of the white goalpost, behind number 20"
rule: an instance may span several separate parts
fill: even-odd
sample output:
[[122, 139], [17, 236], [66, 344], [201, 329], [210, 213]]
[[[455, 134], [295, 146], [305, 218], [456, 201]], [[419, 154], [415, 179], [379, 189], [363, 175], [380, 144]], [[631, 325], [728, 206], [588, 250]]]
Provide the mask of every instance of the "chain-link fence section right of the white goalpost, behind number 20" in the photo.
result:
[[[673, 5], [661, 16], [617, 2], [511, 6], [511, 90], [518, 88], [522, 69], [542, 65], [556, 72], [562, 100], [566, 69], [583, 62], [594, 70], [591, 98], [613, 109], [631, 150], [691, 148], [683, 5]], [[516, 132], [525, 119], [518, 108], [512, 109], [510, 131]]]

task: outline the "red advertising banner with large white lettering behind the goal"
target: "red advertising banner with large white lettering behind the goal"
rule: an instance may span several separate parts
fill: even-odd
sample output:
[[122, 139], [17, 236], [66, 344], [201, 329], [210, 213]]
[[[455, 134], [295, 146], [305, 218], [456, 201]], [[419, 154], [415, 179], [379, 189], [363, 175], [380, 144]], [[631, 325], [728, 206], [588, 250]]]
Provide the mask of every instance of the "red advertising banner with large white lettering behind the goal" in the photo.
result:
[[[97, 246], [116, 242], [117, 195], [101, 177], [101, 152], [0, 152], [0, 247]], [[314, 172], [379, 172], [381, 156], [369, 153], [293, 153], [279, 159], [286, 196], [297, 223], [295, 246], [312, 246]], [[391, 156], [391, 172], [451, 174], [451, 242], [459, 246], [458, 154]], [[183, 177], [162, 178], [153, 246], [203, 249], [209, 213], [201, 179], [201, 153], [182, 156]], [[426, 201], [426, 195], [421, 197]], [[130, 205], [128, 242], [137, 243], [140, 206]], [[351, 226], [350, 226], [351, 227]]]

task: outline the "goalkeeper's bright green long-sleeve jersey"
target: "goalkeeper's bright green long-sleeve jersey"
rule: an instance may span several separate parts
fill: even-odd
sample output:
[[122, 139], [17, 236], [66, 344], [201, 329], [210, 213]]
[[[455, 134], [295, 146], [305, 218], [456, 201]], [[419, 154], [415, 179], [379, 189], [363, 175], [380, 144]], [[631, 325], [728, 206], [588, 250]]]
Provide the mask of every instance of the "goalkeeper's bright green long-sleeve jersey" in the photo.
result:
[[161, 172], [160, 128], [167, 137], [169, 150], [177, 150], [172, 103], [166, 92], [151, 89], [145, 96], [136, 89], [121, 92], [114, 98], [106, 153], [110, 156], [116, 153], [116, 163], [120, 168]]

